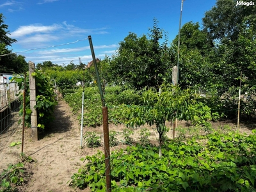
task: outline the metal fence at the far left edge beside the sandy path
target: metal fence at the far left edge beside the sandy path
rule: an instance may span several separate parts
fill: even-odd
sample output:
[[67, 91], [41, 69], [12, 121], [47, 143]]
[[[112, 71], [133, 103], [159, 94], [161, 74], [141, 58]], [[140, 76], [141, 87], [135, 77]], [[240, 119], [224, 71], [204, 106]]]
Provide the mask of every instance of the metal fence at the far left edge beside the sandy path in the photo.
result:
[[7, 132], [19, 118], [18, 93], [17, 83], [0, 83], [0, 134]]

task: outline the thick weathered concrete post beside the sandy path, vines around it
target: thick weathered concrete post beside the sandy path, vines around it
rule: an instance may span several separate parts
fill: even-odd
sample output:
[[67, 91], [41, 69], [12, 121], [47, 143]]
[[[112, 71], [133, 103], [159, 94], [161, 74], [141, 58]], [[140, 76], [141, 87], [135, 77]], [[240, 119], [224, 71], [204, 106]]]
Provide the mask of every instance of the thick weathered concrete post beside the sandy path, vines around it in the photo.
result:
[[29, 61], [29, 95], [30, 95], [30, 109], [31, 113], [31, 129], [32, 129], [32, 140], [38, 141], [38, 130], [37, 130], [37, 117], [36, 117], [36, 79], [35, 76], [32, 76], [32, 73], [35, 72], [35, 63]]

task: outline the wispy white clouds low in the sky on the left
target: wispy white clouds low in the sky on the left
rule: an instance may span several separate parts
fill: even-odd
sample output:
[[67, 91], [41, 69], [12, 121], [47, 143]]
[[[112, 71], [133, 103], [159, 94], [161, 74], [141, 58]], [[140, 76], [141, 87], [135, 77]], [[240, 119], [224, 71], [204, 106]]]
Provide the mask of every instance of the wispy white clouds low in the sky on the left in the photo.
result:
[[[47, 26], [43, 24], [19, 26], [19, 28], [11, 32], [11, 34], [12, 38], [17, 39], [15, 46], [18, 46], [19, 49], [27, 49], [26, 51], [20, 52], [20, 54], [26, 57], [26, 61], [30, 60], [34, 63], [42, 63], [45, 60], [50, 60], [52, 63], [62, 65], [63, 63], [70, 63], [71, 60], [74, 60], [75, 64], [79, 64], [79, 58], [81, 58], [83, 63], [92, 61], [90, 46], [74, 43], [86, 40], [84, 36], [89, 34], [108, 33], [106, 29], [107, 28], [79, 28], [64, 21], [60, 24]], [[60, 45], [63, 47], [60, 47]], [[60, 49], [58, 49], [58, 47], [60, 47]], [[105, 57], [109, 49], [113, 50], [116, 47], [118, 47], [116, 44], [93, 46], [95, 50], [100, 49], [96, 57], [101, 59]], [[109, 52], [112, 53], [112, 51]]]

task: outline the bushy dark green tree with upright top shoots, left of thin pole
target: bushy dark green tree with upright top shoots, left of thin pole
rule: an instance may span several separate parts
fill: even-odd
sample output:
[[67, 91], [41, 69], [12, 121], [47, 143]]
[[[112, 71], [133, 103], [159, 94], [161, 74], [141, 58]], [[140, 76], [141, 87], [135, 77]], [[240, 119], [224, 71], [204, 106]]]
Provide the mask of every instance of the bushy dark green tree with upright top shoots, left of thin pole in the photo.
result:
[[164, 42], [160, 43], [163, 35], [164, 31], [158, 28], [155, 19], [149, 38], [129, 33], [120, 42], [118, 52], [111, 60], [116, 83], [127, 84], [138, 90], [145, 86], [156, 88], [163, 83], [163, 76], [172, 62], [166, 36]]

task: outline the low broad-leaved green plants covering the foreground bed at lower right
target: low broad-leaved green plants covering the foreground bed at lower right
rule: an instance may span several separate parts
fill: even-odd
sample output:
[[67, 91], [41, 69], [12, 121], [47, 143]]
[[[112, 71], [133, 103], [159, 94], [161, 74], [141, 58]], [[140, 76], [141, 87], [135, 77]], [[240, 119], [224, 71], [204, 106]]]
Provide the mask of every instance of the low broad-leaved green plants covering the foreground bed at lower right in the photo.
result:
[[[202, 142], [169, 141], [161, 159], [157, 147], [116, 150], [111, 153], [112, 191], [253, 191], [255, 132], [213, 132]], [[74, 173], [70, 185], [106, 191], [104, 159], [102, 152], [86, 156], [88, 163]]]

